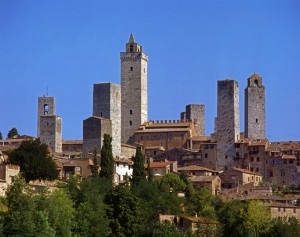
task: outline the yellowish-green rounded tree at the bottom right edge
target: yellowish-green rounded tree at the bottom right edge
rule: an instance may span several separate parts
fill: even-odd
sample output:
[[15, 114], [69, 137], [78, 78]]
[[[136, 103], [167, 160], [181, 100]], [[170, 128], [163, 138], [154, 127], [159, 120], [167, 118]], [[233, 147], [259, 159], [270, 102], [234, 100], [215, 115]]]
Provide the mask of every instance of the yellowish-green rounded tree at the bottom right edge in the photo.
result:
[[270, 229], [271, 217], [267, 207], [261, 201], [253, 200], [248, 205], [245, 226], [250, 236], [259, 237]]

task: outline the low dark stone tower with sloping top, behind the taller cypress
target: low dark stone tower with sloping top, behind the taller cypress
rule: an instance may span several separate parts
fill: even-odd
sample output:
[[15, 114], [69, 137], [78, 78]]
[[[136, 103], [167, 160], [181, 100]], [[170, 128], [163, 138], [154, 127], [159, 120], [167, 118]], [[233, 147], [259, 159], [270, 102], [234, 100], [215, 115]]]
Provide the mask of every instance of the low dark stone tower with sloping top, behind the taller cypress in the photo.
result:
[[101, 152], [104, 134], [112, 134], [112, 122], [109, 119], [92, 116], [83, 120], [83, 157], [95, 150]]

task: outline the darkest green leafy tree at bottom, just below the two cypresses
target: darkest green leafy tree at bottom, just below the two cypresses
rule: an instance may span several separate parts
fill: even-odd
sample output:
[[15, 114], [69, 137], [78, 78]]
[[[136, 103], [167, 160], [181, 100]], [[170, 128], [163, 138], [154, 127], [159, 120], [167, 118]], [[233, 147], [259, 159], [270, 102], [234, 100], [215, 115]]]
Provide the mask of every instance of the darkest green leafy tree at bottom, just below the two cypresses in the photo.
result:
[[128, 188], [116, 187], [106, 195], [104, 202], [108, 205], [106, 213], [110, 220], [110, 236], [140, 236], [141, 207], [138, 198], [133, 196]]

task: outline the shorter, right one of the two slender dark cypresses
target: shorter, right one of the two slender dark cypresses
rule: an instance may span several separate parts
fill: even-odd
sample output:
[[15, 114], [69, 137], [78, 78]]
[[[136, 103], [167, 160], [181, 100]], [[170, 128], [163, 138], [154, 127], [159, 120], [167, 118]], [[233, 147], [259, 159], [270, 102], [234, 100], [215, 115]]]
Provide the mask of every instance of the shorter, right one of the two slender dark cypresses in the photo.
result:
[[140, 146], [137, 146], [135, 157], [133, 157], [132, 185], [138, 185], [146, 180], [144, 156]]

